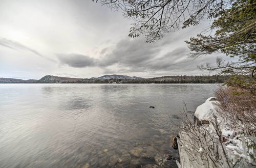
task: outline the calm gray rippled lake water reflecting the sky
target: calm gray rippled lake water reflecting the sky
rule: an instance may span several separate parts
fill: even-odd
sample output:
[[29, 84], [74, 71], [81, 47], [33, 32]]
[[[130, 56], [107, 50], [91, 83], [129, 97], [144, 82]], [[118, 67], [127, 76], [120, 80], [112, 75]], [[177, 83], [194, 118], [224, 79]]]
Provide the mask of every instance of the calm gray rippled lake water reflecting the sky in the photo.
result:
[[[217, 88], [0, 85], [0, 167], [140, 167], [157, 153], [178, 157], [169, 141], [181, 125], [183, 101], [195, 111]], [[143, 149], [138, 157], [129, 152], [134, 147]]]

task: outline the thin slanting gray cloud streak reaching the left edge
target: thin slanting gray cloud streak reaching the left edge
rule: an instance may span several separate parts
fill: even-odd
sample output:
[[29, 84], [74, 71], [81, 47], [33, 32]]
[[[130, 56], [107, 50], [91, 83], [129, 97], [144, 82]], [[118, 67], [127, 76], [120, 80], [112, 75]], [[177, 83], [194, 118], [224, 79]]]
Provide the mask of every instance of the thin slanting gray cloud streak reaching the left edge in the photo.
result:
[[30, 48], [28, 46], [25, 46], [23, 44], [20, 44], [18, 42], [8, 40], [6, 38], [1, 38], [0, 39], [0, 45], [11, 48], [11, 49], [14, 49], [14, 50], [18, 50], [18, 51], [30, 51], [30, 52], [38, 55], [39, 57], [42, 57], [42, 58], [47, 59], [49, 61], [55, 62], [55, 60], [45, 57], [44, 55], [37, 52], [35, 49], [32, 49], [32, 48]]

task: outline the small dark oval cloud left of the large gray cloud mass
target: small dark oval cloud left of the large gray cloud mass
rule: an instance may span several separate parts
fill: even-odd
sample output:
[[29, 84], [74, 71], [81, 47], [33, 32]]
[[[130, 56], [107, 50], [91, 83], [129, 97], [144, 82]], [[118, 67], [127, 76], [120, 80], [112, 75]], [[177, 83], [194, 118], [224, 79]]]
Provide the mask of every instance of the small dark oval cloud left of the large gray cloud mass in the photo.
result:
[[74, 68], [93, 67], [97, 60], [82, 54], [58, 54], [60, 64]]

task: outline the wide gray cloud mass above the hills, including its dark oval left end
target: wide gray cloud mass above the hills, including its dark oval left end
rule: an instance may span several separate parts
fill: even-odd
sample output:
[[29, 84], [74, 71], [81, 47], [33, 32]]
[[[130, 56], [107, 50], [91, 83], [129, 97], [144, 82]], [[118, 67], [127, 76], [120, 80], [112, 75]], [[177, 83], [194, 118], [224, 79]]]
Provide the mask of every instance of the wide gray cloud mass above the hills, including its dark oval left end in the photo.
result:
[[[168, 42], [167, 42], [168, 41]], [[201, 74], [197, 65], [206, 62], [215, 63], [215, 56], [204, 56], [198, 59], [188, 57], [189, 49], [184, 45], [176, 46], [172, 51], [162, 52], [173, 46], [176, 41], [163, 40], [156, 43], [145, 43], [144, 39], [120, 40], [115, 48], [102, 59], [94, 59], [82, 54], [58, 54], [60, 64], [70, 67], [101, 67], [104, 73], [166, 72], [169, 74]], [[104, 50], [104, 49], [103, 49]], [[115, 68], [111, 68], [115, 66]]]

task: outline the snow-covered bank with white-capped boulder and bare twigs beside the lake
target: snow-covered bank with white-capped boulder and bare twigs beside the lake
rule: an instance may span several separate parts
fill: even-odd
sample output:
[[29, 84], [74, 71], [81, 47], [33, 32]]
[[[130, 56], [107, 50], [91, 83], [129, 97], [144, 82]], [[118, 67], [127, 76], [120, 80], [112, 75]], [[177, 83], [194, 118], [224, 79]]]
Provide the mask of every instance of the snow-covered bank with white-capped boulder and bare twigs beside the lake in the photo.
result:
[[179, 132], [180, 168], [255, 167], [255, 135], [231, 128], [235, 123], [221, 115], [218, 103], [208, 98], [197, 107], [197, 124], [187, 122]]

